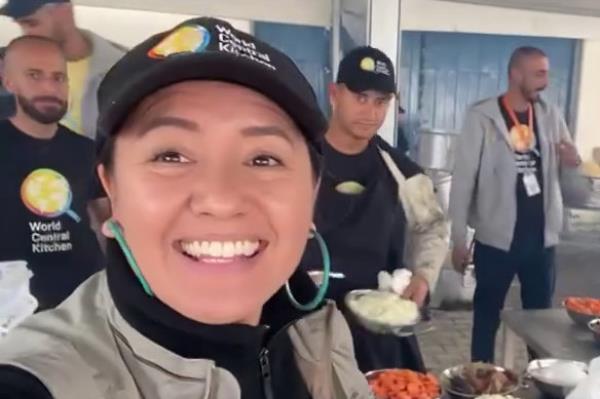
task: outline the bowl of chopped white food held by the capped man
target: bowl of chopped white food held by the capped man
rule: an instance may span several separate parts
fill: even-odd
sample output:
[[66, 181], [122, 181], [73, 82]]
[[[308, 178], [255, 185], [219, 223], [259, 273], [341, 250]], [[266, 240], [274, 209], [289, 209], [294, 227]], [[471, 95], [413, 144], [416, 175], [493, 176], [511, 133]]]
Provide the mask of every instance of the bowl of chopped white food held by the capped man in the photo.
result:
[[363, 327], [378, 334], [413, 335], [421, 321], [417, 304], [394, 292], [354, 290], [346, 295], [345, 302]]

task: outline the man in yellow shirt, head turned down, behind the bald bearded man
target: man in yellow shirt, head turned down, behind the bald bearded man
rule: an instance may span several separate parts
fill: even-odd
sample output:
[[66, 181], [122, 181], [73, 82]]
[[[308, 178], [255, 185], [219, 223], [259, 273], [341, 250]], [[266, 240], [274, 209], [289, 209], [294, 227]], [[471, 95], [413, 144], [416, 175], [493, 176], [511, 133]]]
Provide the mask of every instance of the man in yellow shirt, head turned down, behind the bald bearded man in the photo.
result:
[[96, 137], [96, 92], [102, 76], [124, 50], [102, 37], [77, 28], [70, 0], [8, 0], [0, 14], [12, 18], [26, 35], [56, 41], [67, 58], [69, 109], [62, 124]]

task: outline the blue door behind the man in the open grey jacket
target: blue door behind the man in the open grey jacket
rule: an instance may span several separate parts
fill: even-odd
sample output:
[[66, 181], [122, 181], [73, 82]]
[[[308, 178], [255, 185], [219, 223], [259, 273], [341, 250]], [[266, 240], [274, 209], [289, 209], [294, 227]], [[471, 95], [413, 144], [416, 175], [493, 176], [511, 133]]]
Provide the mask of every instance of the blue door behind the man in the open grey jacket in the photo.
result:
[[568, 120], [577, 40], [403, 32], [400, 85], [410, 145], [414, 147], [420, 129], [457, 133], [470, 104], [506, 90], [510, 54], [525, 45], [548, 54], [551, 82], [544, 97]]

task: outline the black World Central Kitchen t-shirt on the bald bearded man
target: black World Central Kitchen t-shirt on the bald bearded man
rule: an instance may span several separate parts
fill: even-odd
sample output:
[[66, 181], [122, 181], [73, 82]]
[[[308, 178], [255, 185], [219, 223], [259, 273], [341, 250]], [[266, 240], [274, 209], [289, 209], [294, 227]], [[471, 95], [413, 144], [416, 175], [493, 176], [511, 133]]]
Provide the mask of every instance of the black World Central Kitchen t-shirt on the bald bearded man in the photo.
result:
[[87, 205], [103, 193], [92, 140], [60, 126], [50, 140], [0, 121], [0, 261], [26, 260], [39, 309], [54, 307], [102, 266]]

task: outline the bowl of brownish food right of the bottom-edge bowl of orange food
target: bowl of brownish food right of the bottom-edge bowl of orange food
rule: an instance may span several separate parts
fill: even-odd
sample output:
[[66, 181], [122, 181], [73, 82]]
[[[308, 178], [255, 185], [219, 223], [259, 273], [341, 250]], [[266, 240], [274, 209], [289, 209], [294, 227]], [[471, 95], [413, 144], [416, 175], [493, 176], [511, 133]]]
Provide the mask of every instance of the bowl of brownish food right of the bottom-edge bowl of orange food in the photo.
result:
[[444, 391], [456, 399], [510, 395], [521, 387], [521, 380], [516, 373], [487, 363], [470, 363], [446, 369], [440, 382]]

